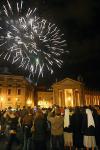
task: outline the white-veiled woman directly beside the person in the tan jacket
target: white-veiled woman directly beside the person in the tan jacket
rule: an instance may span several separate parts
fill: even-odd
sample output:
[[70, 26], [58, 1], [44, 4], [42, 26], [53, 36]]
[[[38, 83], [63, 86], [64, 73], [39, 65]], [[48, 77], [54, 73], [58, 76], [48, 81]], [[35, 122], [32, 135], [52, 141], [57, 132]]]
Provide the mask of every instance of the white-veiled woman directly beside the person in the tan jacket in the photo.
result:
[[65, 109], [64, 115], [64, 145], [65, 149], [71, 149], [73, 147], [73, 122], [72, 122], [72, 114], [70, 110]]

